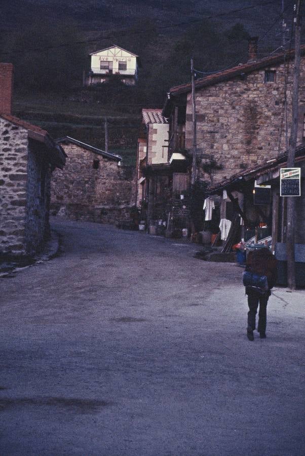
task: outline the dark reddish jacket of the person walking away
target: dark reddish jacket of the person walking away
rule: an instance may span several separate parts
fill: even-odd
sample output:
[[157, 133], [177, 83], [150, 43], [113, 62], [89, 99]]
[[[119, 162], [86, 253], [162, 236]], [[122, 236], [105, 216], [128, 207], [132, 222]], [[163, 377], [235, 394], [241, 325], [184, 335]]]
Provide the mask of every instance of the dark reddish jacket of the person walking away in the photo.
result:
[[277, 281], [277, 260], [268, 248], [252, 250], [247, 256], [246, 271], [267, 276], [271, 289]]

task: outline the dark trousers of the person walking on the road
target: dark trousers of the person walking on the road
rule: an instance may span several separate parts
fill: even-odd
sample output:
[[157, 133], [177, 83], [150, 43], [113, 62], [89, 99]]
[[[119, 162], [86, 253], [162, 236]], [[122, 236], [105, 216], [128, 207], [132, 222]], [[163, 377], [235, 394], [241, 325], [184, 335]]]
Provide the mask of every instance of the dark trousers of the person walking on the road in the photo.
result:
[[257, 314], [257, 308], [259, 304], [258, 312], [258, 325], [257, 331], [264, 334], [266, 331], [267, 323], [267, 303], [270, 296], [270, 291], [264, 294], [259, 294], [256, 291], [248, 292], [248, 330], [253, 331], [255, 329], [255, 317]]

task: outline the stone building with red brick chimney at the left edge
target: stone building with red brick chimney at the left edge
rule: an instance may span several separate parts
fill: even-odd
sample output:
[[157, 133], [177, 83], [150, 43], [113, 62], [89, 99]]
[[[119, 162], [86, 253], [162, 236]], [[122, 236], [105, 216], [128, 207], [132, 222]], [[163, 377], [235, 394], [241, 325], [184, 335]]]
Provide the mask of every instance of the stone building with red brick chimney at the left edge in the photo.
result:
[[50, 233], [51, 174], [65, 156], [47, 131], [11, 115], [12, 74], [0, 64], [0, 255], [32, 256]]

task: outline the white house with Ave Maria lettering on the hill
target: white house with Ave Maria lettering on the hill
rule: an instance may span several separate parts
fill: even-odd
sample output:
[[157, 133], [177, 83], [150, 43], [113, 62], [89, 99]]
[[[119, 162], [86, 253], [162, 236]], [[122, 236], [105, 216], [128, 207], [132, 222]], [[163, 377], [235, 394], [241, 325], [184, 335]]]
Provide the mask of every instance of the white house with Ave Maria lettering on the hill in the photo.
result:
[[90, 54], [90, 69], [84, 74], [84, 85], [107, 82], [112, 74], [120, 76], [126, 85], [137, 80], [139, 57], [119, 46], [102, 49]]

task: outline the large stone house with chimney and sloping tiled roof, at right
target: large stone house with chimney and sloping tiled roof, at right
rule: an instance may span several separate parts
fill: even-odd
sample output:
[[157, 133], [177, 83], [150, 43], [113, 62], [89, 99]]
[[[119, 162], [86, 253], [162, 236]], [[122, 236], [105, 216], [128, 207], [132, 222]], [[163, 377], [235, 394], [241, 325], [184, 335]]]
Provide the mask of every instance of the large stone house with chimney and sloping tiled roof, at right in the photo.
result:
[[[252, 39], [247, 63], [195, 81], [198, 178], [212, 185], [287, 149], [294, 52], [257, 59], [256, 47]], [[304, 137], [305, 46], [301, 52], [298, 144]], [[185, 131], [189, 153], [191, 92], [190, 83], [171, 88], [163, 110], [170, 119], [171, 137]]]

